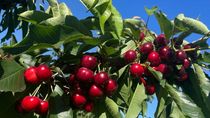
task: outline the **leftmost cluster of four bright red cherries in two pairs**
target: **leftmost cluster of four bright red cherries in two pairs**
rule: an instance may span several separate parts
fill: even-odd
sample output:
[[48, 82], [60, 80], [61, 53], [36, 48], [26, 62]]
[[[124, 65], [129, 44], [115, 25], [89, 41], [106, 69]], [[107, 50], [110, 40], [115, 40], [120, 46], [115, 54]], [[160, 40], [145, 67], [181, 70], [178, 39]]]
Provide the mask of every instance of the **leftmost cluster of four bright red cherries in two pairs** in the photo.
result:
[[[39, 65], [38, 67], [30, 67], [24, 72], [25, 81], [28, 84], [40, 84], [42, 81], [49, 81], [52, 78], [52, 71], [47, 65]], [[48, 112], [49, 103], [36, 96], [25, 96], [19, 100], [16, 109], [21, 112], [36, 112], [45, 115]]]

